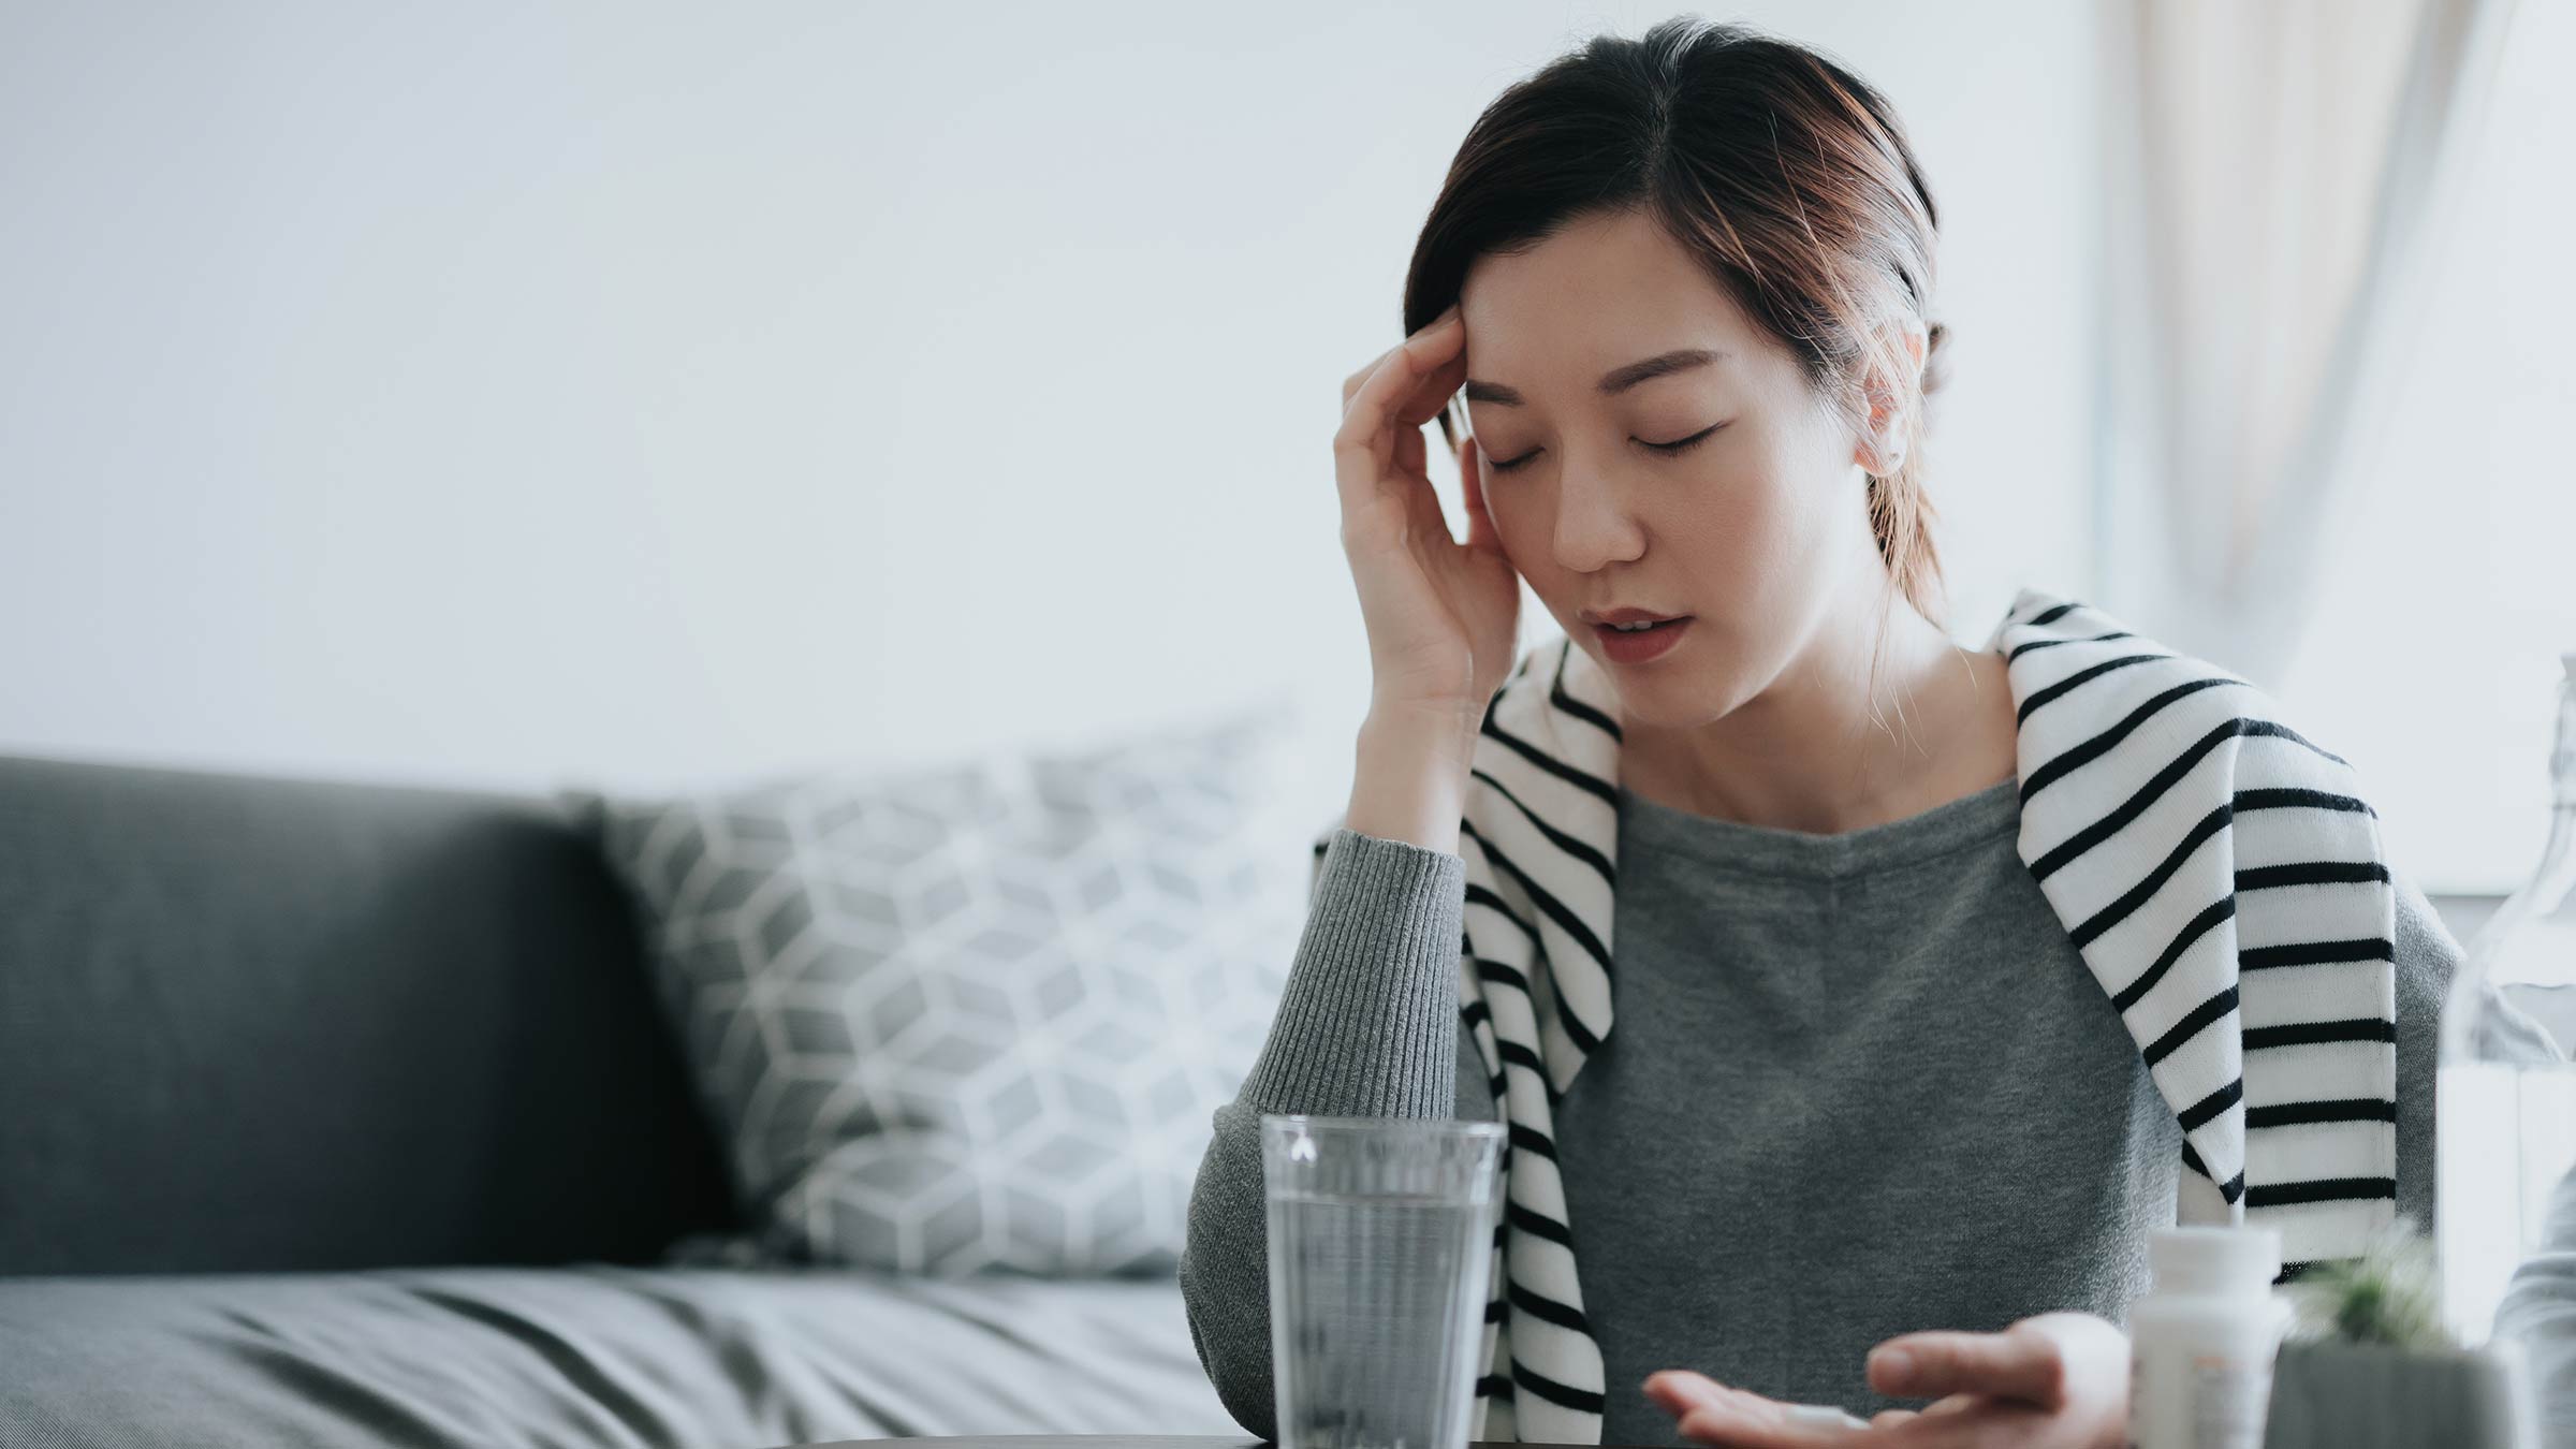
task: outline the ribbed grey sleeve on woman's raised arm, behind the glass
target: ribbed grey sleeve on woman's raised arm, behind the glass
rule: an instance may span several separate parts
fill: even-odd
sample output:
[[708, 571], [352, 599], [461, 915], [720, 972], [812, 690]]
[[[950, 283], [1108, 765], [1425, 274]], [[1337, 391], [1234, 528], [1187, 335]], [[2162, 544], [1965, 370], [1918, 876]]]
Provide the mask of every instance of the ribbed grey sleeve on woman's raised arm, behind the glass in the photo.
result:
[[1494, 1119], [1458, 1024], [1463, 913], [1463, 859], [1337, 828], [1270, 1036], [1216, 1109], [1180, 1297], [1216, 1397], [1262, 1439], [1275, 1439], [1262, 1114]]

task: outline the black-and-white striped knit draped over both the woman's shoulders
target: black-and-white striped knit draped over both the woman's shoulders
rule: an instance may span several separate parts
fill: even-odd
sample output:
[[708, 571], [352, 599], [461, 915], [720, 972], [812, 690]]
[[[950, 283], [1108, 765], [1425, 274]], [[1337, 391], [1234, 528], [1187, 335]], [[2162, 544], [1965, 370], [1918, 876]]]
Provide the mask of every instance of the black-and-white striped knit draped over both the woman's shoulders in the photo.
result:
[[[2177, 1217], [2280, 1227], [2293, 1263], [2360, 1253], [2396, 1212], [2396, 892], [2352, 768], [2081, 603], [2022, 590], [1989, 650], [2022, 861], [2184, 1129]], [[1522, 655], [1476, 740], [1458, 1000], [1510, 1147], [1471, 1439], [1600, 1444], [1553, 1106], [1610, 1034], [1618, 745], [1571, 639]]]

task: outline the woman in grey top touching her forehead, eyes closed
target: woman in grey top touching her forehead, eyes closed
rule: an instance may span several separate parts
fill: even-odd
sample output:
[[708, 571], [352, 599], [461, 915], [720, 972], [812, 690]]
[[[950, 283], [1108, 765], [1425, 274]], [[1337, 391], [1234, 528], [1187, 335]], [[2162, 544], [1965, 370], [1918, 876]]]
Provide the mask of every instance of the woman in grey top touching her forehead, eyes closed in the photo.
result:
[[[1533, 1302], [1553, 1289], [1515, 1279], [1512, 1338], [1574, 1325], [1561, 1361], [1587, 1354], [1600, 1387], [1553, 1382], [1515, 1343], [1481, 1395], [1582, 1405], [1595, 1418], [1574, 1423], [1610, 1444], [1674, 1428], [2120, 1444], [2115, 1323], [2146, 1287], [2146, 1232], [2177, 1199], [2233, 1201], [2246, 1183], [2195, 1186], [2187, 1132], [2213, 1114], [2259, 1129], [2264, 1109], [2210, 1093], [2184, 1127], [2177, 1060], [2141, 1052], [2136, 1000], [2087, 954], [2102, 941], [2020, 853], [2025, 797], [2069, 794], [2032, 794], [2038, 696], [2053, 730], [2123, 724], [2107, 686], [2032, 694], [2035, 676], [2012, 673], [2007, 652], [2061, 639], [1960, 650], [1935, 621], [1932, 242], [1886, 101], [1739, 26], [1595, 39], [1510, 88], [1461, 147], [1406, 278], [1412, 335], [1342, 387], [1342, 544], [1373, 663], [1350, 810], [1190, 1207], [1193, 1333], [1247, 1428], [1275, 1428], [1257, 1124], [1314, 1111], [1507, 1116], [1515, 1207], [1525, 1181], [1556, 1183], [1538, 1217], [1569, 1235], [1579, 1305]], [[1419, 433], [1437, 418], [1455, 438], [1461, 389], [1463, 544]], [[1512, 670], [1520, 580], [1571, 645]], [[2102, 668], [2133, 660], [2174, 663], [2146, 647]], [[1556, 959], [1546, 990], [1481, 959], [1461, 972], [1461, 938], [1484, 957], [1479, 928], [1499, 931], [1484, 882], [1543, 895], [1473, 825], [1479, 799], [1522, 804], [1484, 761], [1502, 758], [1489, 709], [1548, 683], [1533, 663], [1615, 745], [1600, 851], [1615, 853], [1615, 933], [1600, 926], [1618, 949], [1615, 972], [1600, 951], [1592, 1003], [1566, 995], [1582, 962]], [[2241, 683], [2202, 673], [2172, 694]], [[1607, 699], [1577, 699], [1582, 681]], [[2311, 748], [2269, 722], [2239, 732], [2257, 730]], [[2352, 869], [2396, 897], [2393, 1106], [2367, 1104], [2380, 1122], [2360, 1129], [2393, 1119], [2393, 1209], [2429, 1225], [2432, 1029], [2458, 946], [2411, 884]], [[1548, 926], [1551, 957], [1566, 928]], [[1517, 985], [1463, 1000], [1486, 977]], [[1517, 990], [1553, 993], [1548, 1062], [1499, 1044]], [[1584, 1018], [1607, 1021], [1613, 1000], [1618, 1036], [1589, 1039]], [[2159, 1042], [2233, 1052], [2233, 1003], [2228, 985]], [[1589, 1057], [1579, 1078], [1558, 1070], [1569, 1034], [1569, 1060]], [[1540, 1067], [1564, 1080], [1538, 1085]], [[1932, 1413], [1899, 1408], [1922, 1400]], [[1814, 1428], [1801, 1403], [1878, 1421]]]

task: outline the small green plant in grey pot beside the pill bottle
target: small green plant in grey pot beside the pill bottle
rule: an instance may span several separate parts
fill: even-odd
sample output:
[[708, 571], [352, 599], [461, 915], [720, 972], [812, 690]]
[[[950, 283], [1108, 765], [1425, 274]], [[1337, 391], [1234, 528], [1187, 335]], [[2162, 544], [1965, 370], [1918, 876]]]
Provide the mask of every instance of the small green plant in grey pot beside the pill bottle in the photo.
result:
[[2532, 1449], [2519, 1348], [2452, 1338], [2411, 1220], [2285, 1292], [2295, 1320], [2272, 1361], [2264, 1449]]

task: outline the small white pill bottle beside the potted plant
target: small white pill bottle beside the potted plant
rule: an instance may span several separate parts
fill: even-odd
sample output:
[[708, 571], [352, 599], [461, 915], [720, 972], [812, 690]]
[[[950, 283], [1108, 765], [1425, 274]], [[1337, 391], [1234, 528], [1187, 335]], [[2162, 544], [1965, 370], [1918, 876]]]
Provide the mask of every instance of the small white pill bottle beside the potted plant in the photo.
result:
[[2272, 1292], [2280, 1232], [2164, 1227], [2154, 1287], [2128, 1305], [2130, 1449], [2262, 1449], [2290, 1305]]

